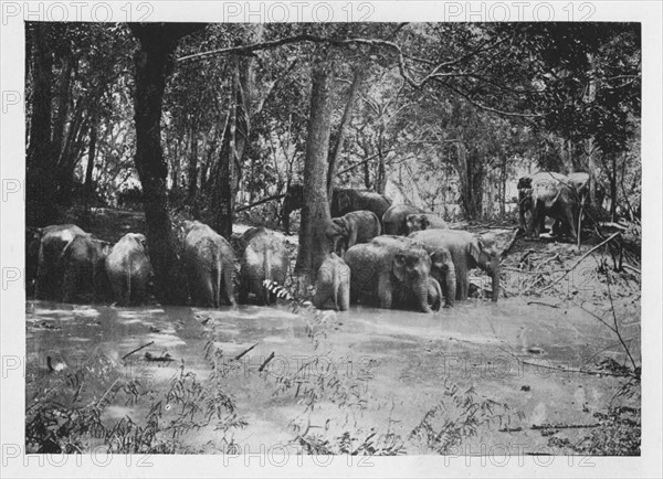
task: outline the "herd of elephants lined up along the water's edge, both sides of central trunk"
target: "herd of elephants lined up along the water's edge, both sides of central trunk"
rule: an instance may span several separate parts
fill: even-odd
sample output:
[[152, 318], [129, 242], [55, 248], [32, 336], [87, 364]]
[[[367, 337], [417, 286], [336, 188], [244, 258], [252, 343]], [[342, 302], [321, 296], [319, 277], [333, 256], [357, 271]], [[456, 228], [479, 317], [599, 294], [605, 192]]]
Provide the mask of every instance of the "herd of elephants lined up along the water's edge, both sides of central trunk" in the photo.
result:
[[[339, 210], [350, 211], [332, 220], [334, 246], [317, 272], [314, 306], [347, 310], [350, 301], [360, 300], [432, 312], [443, 300], [449, 307], [467, 298], [467, 273], [474, 267], [491, 275], [492, 299], [497, 300], [499, 255], [494, 242], [450, 230], [442, 219], [391, 205], [377, 193], [341, 190], [338, 196]], [[269, 285], [286, 281], [291, 262], [281, 233], [252, 227], [234, 248], [198, 221], [183, 222], [181, 233], [181, 265], [192, 306], [245, 304], [252, 295], [256, 302], [270, 305], [275, 295]], [[25, 245], [27, 275], [38, 299], [72, 302], [92, 296], [93, 302], [117, 305], [148, 299], [154, 274], [140, 233], [127, 233], [112, 245], [74, 224], [61, 224], [29, 230]]]

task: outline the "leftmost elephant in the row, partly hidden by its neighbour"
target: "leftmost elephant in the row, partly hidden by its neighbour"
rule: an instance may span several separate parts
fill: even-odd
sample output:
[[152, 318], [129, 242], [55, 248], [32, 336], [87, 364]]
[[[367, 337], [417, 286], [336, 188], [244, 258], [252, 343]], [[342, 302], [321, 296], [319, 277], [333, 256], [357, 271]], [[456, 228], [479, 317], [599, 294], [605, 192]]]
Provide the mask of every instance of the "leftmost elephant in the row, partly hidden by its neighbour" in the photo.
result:
[[[76, 237], [86, 233], [75, 224], [56, 224], [32, 232], [29, 255], [38, 248], [36, 286], [38, 299], [62, 299], [64, 267], [62, 252]], [[39, 245], [39, 246], [38, 246]]]

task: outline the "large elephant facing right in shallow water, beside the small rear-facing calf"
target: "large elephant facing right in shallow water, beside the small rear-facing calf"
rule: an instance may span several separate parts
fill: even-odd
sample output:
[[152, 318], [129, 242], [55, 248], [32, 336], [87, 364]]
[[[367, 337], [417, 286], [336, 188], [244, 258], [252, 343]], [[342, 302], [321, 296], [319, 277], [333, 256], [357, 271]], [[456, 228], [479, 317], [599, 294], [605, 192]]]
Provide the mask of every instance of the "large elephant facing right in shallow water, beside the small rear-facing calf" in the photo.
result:
[[411, 294], [420, 311], [432, 312], [428, 301], [431, 258], [414, 241], [377, 236], [349, 248], [345, 262], [350, 267], [351, 299], [378, 298], [380, 308], [390, 309], [394, 298]]

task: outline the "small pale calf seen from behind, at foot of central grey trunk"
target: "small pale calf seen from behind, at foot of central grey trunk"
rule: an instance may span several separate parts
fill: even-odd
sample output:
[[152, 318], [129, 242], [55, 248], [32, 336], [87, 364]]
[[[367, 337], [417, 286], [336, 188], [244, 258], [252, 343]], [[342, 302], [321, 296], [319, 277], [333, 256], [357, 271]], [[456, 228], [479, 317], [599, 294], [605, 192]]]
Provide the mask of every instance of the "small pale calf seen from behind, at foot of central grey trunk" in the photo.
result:
[[323, 309], [330, 299], [337, 311], [350, 308], [350, 267], [335, 253], [327, 255], [317, 272], [313, 305]]

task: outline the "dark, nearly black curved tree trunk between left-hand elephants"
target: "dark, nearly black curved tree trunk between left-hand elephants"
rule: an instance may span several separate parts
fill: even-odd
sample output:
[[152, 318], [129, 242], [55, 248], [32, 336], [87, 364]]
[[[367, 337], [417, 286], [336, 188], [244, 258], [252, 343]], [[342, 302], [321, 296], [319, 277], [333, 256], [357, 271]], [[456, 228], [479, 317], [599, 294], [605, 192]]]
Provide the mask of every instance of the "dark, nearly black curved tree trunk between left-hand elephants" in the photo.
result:
[[155, 270], [157, 295], [164, 302], [186, 299], [176, 257], [175, 235], [168, 214], [166, 180], [168, 168], [161, 149], [161, 99], [172, 72], [172, 54], [180, 38], [204, 26], [182, 23], [131, 23], [140, 41], [136, 52], [136, 170], [143, 185], [147, 241]]

